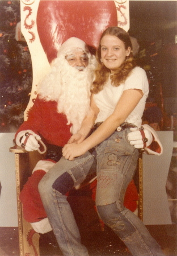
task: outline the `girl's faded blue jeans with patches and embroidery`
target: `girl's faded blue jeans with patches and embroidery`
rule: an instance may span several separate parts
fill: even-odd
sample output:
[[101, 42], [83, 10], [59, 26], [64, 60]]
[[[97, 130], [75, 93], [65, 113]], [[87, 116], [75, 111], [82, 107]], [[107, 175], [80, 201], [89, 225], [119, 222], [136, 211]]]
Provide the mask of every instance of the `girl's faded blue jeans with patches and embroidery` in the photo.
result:
[[96, 208], [99, 217], [132, 255], [162, 256], [158, 243], [134, 213], [124, 207], [124, 195], [137, 166], [138, 150], [127, 140], [129, 129], [115, 131], [95, 148], [73, 161], [61, 158], [44, 175], [39, 192], [58, 245], [65, 256], [88, 256], [65, 194], [97, 172]]

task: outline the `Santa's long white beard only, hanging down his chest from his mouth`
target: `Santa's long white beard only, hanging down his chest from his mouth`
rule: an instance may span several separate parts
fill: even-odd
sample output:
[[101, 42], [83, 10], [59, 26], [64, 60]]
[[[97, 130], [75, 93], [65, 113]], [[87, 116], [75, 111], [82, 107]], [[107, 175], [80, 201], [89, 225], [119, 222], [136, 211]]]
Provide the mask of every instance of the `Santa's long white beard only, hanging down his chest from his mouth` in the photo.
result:
[[73, 124], [71, 133], [75, 134], [80, 129], [90, 107], [90, 88], [92, 80], [88, 79], [88, 69], [78, 71], [66, 61], [61, 72], [62, 88], [58, 99], [57, 109], [64, 113], [68, 125]]

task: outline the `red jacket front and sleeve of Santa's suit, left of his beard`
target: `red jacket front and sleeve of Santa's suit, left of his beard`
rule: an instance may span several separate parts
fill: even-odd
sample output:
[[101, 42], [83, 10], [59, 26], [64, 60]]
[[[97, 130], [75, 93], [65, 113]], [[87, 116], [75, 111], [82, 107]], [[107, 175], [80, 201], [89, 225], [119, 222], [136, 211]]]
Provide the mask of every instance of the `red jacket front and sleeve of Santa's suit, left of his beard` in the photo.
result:
[[44, 101], [37, 97], [29, 110], [27, 121], [16, 132], [15, 139], [19, 141], [28, 130], [40, 135], [44, 143], [64, 146], [71, 137], [71, 123], [67, 123], [66, 115], [57, 112], [56, 101]]

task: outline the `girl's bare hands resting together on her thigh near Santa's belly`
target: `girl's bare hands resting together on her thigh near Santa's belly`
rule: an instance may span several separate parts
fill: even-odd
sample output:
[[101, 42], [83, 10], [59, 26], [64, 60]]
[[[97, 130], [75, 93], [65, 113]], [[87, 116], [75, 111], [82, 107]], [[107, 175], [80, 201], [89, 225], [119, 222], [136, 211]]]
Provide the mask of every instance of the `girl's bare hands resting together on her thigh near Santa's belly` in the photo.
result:
[[85, 154], [86, 151], [82, 144], [70, 143], [62, 148], [62, 155], [72, 161], [75, 157]]

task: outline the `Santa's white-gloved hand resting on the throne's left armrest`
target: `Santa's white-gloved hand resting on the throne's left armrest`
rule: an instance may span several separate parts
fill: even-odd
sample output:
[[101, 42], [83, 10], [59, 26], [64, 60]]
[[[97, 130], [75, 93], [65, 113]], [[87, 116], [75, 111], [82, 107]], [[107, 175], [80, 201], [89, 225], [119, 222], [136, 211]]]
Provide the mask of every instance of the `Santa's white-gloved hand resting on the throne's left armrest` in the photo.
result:
[[27, 151], [38, 150], [40, 147], [38, 141], [40, 140], [41, 137], [31, 130], [20, 131], [16, 136], [16, 144]]

